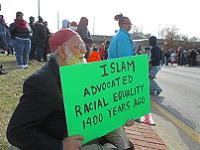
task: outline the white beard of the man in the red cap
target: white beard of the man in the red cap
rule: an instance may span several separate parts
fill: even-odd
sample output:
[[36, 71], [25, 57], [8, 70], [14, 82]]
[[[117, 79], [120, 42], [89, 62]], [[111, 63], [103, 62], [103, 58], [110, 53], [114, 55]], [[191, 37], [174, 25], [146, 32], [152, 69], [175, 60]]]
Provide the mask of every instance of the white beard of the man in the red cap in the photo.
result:
[[74, 64], [86, 63], [85, 58], [81, 59], [80, 57], [75, 56], [68, 47], [65, 47], [65, 52], [67, 54], [67, 58], [65, 60], [66, 65], [74, 65]]

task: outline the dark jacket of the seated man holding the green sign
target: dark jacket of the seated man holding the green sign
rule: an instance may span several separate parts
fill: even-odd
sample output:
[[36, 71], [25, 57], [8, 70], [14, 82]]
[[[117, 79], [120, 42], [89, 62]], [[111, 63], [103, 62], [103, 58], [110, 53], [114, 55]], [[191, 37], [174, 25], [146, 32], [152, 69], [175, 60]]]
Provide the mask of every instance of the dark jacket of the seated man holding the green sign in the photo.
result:
[[24, 83], [7, 128], [8, 141], [21, 150], [61, 150], [67, 129], [58, 69], [50, 59]]

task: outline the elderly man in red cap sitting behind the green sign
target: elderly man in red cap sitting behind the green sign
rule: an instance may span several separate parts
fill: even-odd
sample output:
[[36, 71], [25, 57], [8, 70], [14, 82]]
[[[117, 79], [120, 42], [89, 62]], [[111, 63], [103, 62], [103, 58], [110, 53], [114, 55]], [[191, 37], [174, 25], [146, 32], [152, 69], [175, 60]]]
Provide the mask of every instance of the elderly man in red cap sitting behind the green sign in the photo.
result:
[[52, 35], [49, 45], [49, 62], [24, 83], [23, 95], [8, 125], [8, 141], [22, 150], [130, 148], [122, 128], [105, 136], [112, 144], [95, 140], [82, 145], [83, 137], [67, 136], [59, 66], [83, 63], [86, 50], [80, 36], [70, 29]]

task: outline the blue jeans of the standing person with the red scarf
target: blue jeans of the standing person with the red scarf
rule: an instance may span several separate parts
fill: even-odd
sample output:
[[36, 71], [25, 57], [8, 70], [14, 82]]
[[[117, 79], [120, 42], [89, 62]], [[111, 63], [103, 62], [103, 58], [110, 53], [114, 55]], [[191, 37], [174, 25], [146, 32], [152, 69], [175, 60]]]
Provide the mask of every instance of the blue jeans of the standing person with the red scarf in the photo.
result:
[[28, 65], [29, 53], [31, 50], [31, 40], [16, 38], [14, 41], [14, 48], [18, 65]]

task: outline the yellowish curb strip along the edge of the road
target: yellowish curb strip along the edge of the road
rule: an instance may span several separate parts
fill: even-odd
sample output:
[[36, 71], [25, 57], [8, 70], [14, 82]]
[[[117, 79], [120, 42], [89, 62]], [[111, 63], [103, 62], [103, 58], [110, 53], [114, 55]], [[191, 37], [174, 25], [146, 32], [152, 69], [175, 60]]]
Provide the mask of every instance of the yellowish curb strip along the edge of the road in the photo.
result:
[[183, 132], [185, 132], [193, 141], [200, 145], [200, 134], [196, 132], [194, 129], [186, 125], [179, 118], [174, 116], [172, 113], [164, 109], [162, 106], [157, 104], [155, 101], [151, 101], [151, 105], [158, 110], [163, 116], [168, 118], [171, 122], [173, 122], [177, 127], [179, 127]]

